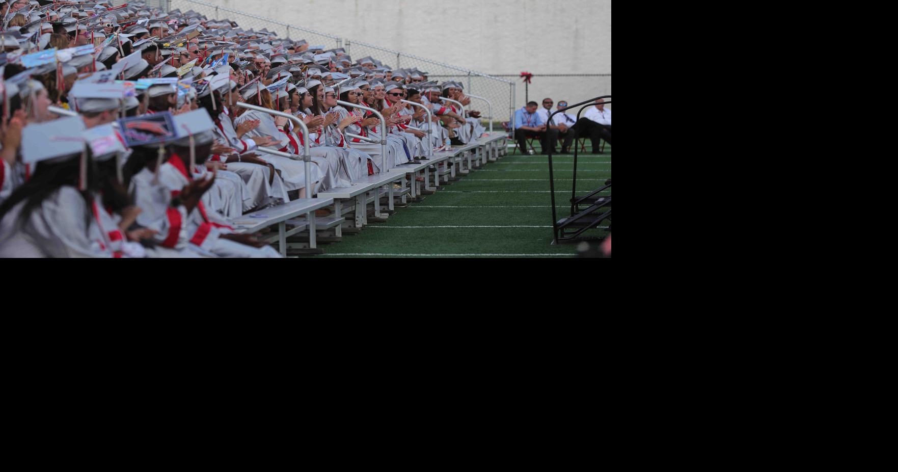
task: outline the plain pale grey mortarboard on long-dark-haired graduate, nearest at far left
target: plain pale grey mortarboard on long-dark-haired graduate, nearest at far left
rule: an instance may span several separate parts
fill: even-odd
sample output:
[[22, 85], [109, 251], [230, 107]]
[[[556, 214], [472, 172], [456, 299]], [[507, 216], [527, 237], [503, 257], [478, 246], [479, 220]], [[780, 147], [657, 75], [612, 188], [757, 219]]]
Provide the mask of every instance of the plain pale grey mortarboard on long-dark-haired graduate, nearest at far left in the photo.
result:
[[82, 131], [84, 120], [77, 116], [26, 126], [22, 129], [22, 163], [80, 156], [84, 152]]

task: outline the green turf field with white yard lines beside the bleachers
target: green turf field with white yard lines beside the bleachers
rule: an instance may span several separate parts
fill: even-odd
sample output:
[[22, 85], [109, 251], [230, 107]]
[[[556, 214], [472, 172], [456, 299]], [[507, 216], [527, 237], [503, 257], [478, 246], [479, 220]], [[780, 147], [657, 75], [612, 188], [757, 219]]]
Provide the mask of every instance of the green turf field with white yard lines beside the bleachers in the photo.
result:
[[[510, 141], [509, 141], [510, 142]], [[539, 143], [534, 142], [537, 153]], [[587, 141], [586, 149], [591, 150]], [[577, 245], [551, 245], [549, 165], [546, 156], [501, 157], [462, 179], [441, 185], [424, 201], [397, 208], [386, 223], [320, 245], [315, 257], [572, 257]], [[570, 198], [573, 155], [552, 156], [556, 198]], [[612, 176], [612, 147], [577, 157], [577, 193], [601, 187]], [[606, 193], [610, 193], [607, 191]], [[569, 216], [559, 205], [559, 218]], [[600, 230], [586, 233], [604, 235]]]

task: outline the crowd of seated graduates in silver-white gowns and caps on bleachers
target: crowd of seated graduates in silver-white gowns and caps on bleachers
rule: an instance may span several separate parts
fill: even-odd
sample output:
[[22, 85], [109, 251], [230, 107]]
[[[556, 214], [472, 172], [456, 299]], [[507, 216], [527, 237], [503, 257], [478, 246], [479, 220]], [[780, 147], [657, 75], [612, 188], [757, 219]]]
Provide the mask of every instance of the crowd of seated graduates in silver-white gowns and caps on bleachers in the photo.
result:
[[192, 11], [0, 13], [0, 257], [279, 257], [233, 220], [485, 133], [459, 82]]

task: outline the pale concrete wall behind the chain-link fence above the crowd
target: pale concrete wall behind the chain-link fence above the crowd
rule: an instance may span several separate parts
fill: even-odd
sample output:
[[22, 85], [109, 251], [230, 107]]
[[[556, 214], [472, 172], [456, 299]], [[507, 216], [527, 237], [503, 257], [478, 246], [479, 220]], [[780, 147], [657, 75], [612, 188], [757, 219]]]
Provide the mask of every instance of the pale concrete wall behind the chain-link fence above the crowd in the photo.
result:
[[[612, 72], [611, 0], [205, 1], [490, 75]], [[189, 9], [177, 0], [175, 6]], [[529, 92], [535, 102], [548, 96], [573, 103], [611, 94], [611, 77], [534, 77]], [[523, 106], [523, 84], [516, 97]]]

